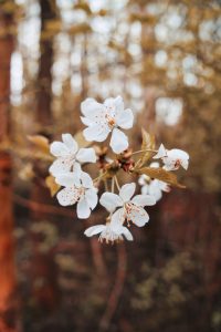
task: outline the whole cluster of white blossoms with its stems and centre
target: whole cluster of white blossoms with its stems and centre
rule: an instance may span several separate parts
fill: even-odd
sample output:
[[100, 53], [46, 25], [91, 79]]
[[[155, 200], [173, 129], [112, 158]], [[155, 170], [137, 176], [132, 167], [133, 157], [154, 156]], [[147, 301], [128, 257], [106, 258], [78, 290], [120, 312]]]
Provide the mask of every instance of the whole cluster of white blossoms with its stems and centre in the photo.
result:
[[[180, 166], [187, 169], [189, 155], [177, 148], [166, 149], [162, 144], [158, 149], [154, 149], [151, 144], [148, 145], [147, 138], [143, 142], [143, 146], [146, 144], [145, 148], [131, 152], [124, 131], [133, 127], [134, 114], [131, 110], [125, 110], [120, 96], [107, 98], [104, 103], [86, 98], [81, 104], [81, 112], [82, 123], [86, 126], [83, 136], [88, 142], [87, 146], [94, 142], [107, 142], [107, 145], [103, 144], [101, 148], [97, 145], [80, 147], [71, 134], [63, 134], [62, 142], [53, 142], [50, 145], [50, 152], [55, 158], [49, 172], [60, 186], [56, 198], [62, 206], [76, 205], [80, 219], [88, 218], [99, 201], [107, 211], [106, 222], [87, 228], [85, 236], [99, 234], [99, 240], [106, 242], [120, 241], [124, 238], [131, 241], [133, 235], [128, 227], [131, 224], [143, 227], [149, 221], [145, 207], [155, 205], [161, 198], [162, 191], [170, 190], [170, 185], [173, 184], [170, 173]], [[158, 162], [151, 160], [149, 167], [145, 168], [149, 162], [147, 153]], [[140, 155], [138, 163], [134, 159], [135, 155]], [[92, 179], [90, 174], [83, 170], [87, 164], [95, 164], [96, 169], [99, 169], [96, 178]], [[135, 195], [135, 181], [119, 185], [117, 173], [120, 169], [137, 177], [140, 194]], [[157, 172], [152, 175], [152, 170]], [[164, 176], [166, 180], [162, 180]], [[110, 190], [107, 188], [108, 181], [112, 183]], [[105, 184], [106, 189], [98, 198], [102, 184]]]

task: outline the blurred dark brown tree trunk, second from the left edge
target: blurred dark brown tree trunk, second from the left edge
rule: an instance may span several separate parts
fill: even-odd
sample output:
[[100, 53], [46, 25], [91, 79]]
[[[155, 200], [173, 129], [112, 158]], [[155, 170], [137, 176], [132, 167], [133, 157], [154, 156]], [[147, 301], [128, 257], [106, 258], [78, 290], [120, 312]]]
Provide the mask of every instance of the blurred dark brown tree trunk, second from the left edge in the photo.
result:
[[[52, 124], [52, 64], [53, 64], [53, 38], [45, 33], [48, 22], [55, 19], [55, 0], [40, 0], [41, 7], [41, 40], [40, 40], [40, 66], [38, 76], [36, 95], [36, 121], [40, 134], [49, 135]], [[34, 165], [35, 180], [33, 184], [31, 198], [38, 203], [50, 203], [50, 193], [44, 186], [46, 177], [41, 163]], [[33, 222], [48, 220], [41, 210], [32, 212]], [[38, 235], [32, 236], [34, 263], [32, 267], [32, 292], [36, 305], [41, 310], [51, 310], [57, 303], [56, 267], [50, 252], [41, 251], [41, 239]], [[39, 284], [38, 280], [42, 280]]]

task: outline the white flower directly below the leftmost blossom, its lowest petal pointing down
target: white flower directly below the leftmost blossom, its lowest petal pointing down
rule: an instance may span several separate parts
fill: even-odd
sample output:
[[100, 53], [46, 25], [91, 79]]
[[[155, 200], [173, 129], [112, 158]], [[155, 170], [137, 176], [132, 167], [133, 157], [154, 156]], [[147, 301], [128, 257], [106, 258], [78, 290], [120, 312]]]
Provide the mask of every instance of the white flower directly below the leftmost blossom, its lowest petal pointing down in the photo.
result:
[[97, 189], [94, 187], [91, 176], [81, 172], [81, 178], [78, 178], [75, 173], [69, 172], [59, 175], [56, 183], [65, 187], [56, 195], [59, 203], [62, 206], [77, 203], [77, 217], [80, 219], [88, 218], [97, 205]]

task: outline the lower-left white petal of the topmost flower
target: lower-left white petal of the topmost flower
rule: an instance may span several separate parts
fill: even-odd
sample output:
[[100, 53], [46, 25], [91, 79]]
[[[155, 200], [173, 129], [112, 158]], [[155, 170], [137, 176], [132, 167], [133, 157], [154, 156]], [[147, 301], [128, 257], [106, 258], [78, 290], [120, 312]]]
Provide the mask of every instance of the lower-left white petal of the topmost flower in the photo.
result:
[[83, 131], [84, 138], [87, 142], [104, 142], [109, 134], [108, 126], [95, 124]]

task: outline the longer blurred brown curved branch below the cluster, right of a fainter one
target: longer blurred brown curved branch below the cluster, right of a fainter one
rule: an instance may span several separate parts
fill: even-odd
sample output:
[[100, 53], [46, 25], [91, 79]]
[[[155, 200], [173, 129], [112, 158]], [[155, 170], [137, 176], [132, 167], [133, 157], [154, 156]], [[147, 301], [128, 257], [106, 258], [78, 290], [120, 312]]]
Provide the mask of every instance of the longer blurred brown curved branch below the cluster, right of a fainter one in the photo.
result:
[[107, 331], [112, 318], [116, 311], [123, 288], [126, 279], [126, 268], [127, 268], [127, 252], [125, 248], [125, 243], [122, 242], [117, 246], [117, 272], [116, 272], [116, 281], [110, 292], [109, 299], [107, 301], [106, 310], [102, 317], [99, 323], [99, 331]]

